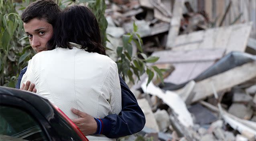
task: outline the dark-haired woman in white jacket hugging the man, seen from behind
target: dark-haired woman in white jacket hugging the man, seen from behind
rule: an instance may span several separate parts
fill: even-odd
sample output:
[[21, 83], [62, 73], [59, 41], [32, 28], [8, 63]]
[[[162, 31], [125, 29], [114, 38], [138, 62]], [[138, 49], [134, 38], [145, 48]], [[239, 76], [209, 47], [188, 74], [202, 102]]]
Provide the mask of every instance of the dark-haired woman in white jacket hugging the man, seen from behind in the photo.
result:
[[[53, 28], [48, 51], [37, 53], [28, 62], [22, 77], [35, 83], [37, 93], [49, 99], [70, 119], [79, 118], [70, 107], [95, 118], [118, 114], [122, 109], [116, 63], [106, 56], [98, 22], [87, 7], [63, 10]], [[104, 135], [91, 140], [112, 141]]]

